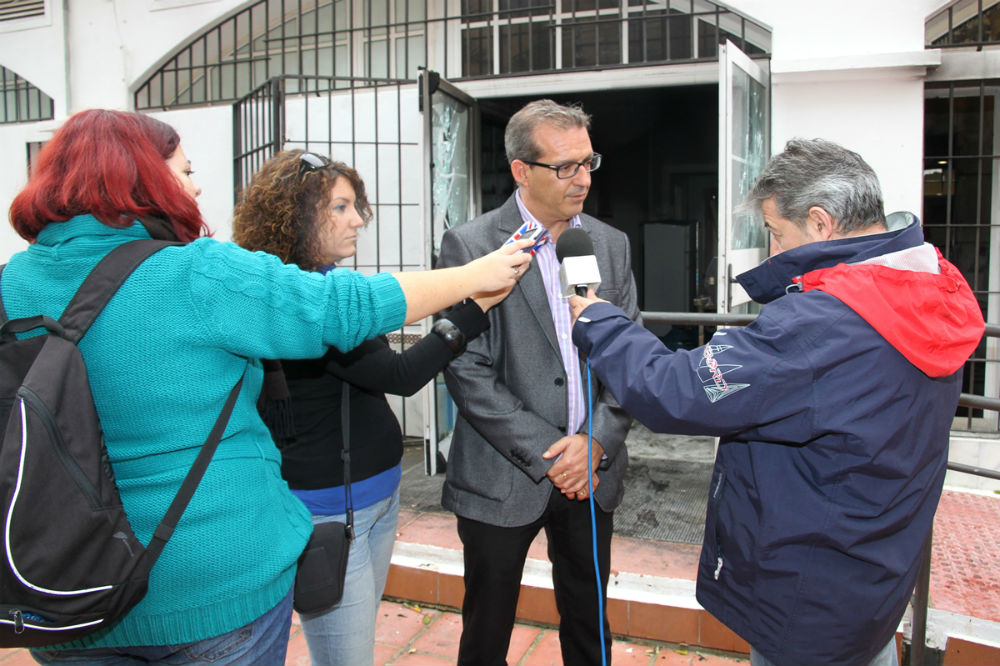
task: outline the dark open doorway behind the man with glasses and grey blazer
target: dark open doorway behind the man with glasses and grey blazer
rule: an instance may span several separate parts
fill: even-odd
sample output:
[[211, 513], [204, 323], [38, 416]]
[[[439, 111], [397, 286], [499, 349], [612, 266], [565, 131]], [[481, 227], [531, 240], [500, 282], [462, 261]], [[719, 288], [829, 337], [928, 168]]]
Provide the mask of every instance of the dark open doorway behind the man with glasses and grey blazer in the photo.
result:
[[[591, 141], [603, 163], [585, 212], [624, 231], [632, 244], [639, 307], [715, 310], [718, 87], [715, 85], [551, 95], [591, 114]], [[535, 97], [480, 99], [482, 207], [513, 192], [503, 132]], [[652, 325], [671, 348], [698, 345], [696, 327]]]

